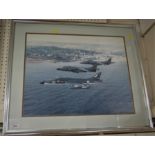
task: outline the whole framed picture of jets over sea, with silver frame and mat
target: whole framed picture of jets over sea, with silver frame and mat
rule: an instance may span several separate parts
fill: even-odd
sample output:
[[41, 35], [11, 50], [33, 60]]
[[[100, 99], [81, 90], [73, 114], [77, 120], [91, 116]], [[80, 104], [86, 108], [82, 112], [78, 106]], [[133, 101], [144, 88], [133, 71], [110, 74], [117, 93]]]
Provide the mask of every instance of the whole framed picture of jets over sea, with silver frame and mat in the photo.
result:
[[152, 125], [134, 27], [13, 21], [4, 134]]

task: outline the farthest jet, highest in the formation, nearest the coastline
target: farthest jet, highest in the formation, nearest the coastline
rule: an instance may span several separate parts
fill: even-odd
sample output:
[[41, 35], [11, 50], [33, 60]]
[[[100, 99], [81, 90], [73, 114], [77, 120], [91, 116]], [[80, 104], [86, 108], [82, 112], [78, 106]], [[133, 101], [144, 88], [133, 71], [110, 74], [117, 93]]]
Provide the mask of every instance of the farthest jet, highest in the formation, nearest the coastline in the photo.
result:
[[108, 60], [105, 61], [97, 61], [97, 60], [86, 60], [81, 62], [81, 64], [91, 64], [91, 65], [110, 65], [112, 58], [109, 57]]

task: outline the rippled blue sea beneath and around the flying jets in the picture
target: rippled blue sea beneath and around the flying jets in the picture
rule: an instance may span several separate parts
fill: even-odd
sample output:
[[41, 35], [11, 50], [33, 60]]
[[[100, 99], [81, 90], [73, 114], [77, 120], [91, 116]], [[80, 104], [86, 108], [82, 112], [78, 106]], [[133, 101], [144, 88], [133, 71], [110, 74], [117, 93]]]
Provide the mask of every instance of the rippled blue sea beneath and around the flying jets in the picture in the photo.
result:
[[72, 84], [40, 84], [60, 77], [90, 78], [94, 72], [60, 71], [63, 66], [91, 67], [80, 62], [26, 62], [23, 116], [113, 115], [134, 113], [134, 102], [126, 61], [98, 66], [101, 81], [88, 89]]

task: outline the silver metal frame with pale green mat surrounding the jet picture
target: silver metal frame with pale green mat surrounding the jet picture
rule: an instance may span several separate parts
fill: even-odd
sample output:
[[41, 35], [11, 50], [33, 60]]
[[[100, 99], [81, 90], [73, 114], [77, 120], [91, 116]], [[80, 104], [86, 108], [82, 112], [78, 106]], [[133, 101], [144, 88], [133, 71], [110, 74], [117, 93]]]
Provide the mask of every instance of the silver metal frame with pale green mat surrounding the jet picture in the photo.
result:
[[[131, 114], [23, 117], [23, 85], [27, 33], [53, 35], [121, 36], [127, 51], [135, 111]], [[4, 104], [4, 135], [83, 135], [133, 132], [153, 127], [142, 67], [138, 35], [133, 25], [107, 25], [61, 21], [12, 20], [7, 89]], [[20, 67], [19, 67], [20, 66]]]

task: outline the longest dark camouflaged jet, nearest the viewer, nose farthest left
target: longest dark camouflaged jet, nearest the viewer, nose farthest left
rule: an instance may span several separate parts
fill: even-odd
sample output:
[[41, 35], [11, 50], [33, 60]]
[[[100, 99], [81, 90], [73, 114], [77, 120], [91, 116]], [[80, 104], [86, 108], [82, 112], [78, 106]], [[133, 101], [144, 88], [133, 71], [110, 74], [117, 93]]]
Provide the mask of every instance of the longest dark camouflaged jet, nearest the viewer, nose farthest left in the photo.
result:
[[101, 82], [100, 80], [101, 72], [96, 73], [93, 77], [90, 78], [70, 78], [70, 77], [62, 77], [62, 78], [56, 78], [54, 80], [47, 80], [47, 81], [41, 81], [40, 84], [64, 84], [64, 83], [71, 83], [71, 84], [91, 84], [95, 82]]

